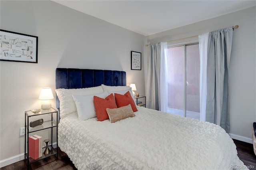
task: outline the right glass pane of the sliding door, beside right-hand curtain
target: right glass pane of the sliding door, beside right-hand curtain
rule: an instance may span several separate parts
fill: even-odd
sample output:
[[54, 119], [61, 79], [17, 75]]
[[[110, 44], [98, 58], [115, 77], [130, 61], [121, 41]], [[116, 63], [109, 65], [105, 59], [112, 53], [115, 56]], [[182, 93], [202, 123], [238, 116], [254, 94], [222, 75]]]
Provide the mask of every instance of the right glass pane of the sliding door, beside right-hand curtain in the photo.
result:
[[186, 117], [200, 120], [199, 45], [186, 46]]

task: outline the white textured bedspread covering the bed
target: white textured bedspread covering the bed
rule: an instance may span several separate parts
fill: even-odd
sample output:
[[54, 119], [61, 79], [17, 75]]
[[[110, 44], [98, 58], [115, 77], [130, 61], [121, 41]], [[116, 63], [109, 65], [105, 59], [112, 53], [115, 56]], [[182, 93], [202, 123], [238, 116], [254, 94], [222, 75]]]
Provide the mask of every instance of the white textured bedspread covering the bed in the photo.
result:
[[62, 117], [58, 144], [76, 168], [232, 169], [244, 165], [221, 127], [138, 107], [135, 117], [116, 123]]

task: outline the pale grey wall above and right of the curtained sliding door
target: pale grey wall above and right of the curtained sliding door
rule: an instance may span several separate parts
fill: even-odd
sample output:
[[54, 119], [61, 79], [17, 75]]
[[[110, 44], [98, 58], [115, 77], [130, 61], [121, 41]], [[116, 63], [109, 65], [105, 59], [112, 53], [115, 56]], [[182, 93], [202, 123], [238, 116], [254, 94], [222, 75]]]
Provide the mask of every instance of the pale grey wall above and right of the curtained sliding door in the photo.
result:
[[146, 43], [178, 40], [235, 25], [239, 28], [233, 33], [230, 59], [230, 136], [252, 143], [252, 123], [256, 121], [256, 7], [150, 35]]

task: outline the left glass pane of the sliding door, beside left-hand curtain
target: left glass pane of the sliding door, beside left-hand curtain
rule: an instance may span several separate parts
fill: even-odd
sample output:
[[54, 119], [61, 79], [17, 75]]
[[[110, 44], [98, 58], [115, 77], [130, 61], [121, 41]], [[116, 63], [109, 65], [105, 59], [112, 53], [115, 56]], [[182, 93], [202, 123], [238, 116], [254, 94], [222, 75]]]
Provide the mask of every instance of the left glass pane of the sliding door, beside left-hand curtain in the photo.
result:
[[184, 47], [168, 48], [168, 112], [184, 115]]

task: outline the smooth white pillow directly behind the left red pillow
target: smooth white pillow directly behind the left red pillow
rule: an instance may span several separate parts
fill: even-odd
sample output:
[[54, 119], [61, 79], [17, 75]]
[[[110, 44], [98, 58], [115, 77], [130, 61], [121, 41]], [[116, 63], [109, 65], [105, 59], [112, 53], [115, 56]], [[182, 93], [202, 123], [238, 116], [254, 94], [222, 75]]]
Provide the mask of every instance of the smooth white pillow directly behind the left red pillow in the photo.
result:
[[98, 96], [105, 99], [108, 96], [108, 93], [105, 91], [104, 93], [100, 93], [96, 95], [72, 95], [72, 96], [76, 103], [78, 119], [83, 121], [86, 119], [96, 117], [93, 96]]

